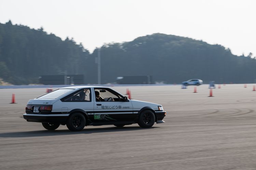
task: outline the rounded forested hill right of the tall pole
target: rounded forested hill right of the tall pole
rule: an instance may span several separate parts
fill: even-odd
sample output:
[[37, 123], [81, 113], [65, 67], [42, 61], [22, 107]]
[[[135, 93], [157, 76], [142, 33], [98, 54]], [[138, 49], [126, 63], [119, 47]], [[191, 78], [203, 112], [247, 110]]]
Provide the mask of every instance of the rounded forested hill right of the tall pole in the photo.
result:
[[152, 75], [154, 81], [168, 83], [188, 79], [254, 83], [256, 79], [255, 59], [233, 55], [221, 45], [174, 35], [156, 33], [123, 44], [104, 45], [101, 54], [102, 69], [108, 70], [102, 72], [102, 82], [113, 82], [122, 75]]

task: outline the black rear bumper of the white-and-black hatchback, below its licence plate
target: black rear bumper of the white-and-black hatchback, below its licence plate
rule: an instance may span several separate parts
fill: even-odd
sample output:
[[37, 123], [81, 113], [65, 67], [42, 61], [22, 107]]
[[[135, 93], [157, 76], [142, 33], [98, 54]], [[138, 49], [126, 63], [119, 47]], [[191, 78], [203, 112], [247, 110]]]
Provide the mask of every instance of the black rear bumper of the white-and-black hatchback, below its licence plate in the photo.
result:
[[28, 122], [44, 122], [44, 123], [62, 123], [66, 124], [69, 114], [53, 114], [53, 115], [42, 115], [42, 114], [24, 114], [23, 118]]

